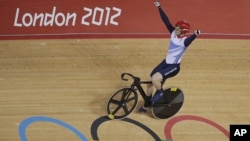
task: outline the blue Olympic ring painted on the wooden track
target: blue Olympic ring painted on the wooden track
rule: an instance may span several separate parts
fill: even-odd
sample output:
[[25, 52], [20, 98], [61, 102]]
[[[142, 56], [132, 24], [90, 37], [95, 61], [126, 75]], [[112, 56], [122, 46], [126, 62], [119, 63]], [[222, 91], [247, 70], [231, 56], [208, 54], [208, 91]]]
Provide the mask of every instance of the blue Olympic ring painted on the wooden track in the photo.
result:
[[43, 122], [47, 121], [47, 122], [58, 124], [62, 127], [67, 128], [71, 132], [73, 132], [75, 135], [77, 135], [81, 139], [81, 141], [87, 141], [86, 137], [80, 131], [78, 131], [76, 128], [74, 128], [73, 126], [71, 126], [63, 121], [60, 121], [58, 119], [54, 119], [54, 118], [50, 118], [50, 117], [43, 117], [43, 116], [35, 116], [35, 117], [27, 118], [19, 125], [19, 136], [21, 138], [21, 141], [28, 141], [26, 134], [25, 134], [26, 128], [30, 124], [32, 124], [34, 122], [38, 122], [38, 121], [43, 121]]

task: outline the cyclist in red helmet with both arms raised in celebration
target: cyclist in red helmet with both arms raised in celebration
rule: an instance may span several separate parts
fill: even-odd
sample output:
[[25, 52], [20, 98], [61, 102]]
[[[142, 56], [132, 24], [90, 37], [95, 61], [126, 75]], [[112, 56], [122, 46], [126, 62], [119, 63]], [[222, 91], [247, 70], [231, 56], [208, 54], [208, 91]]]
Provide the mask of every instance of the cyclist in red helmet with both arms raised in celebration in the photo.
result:
[[[180, 71], [180, 63], [182, 57], [187, 49], [187, 47], [200, 35], [200, 30], [195, 30], [193, 34], [187, 36], [190, 32], [190, 25], [185, 20], [177, 21], [175, 25], [172, 25], [169, 21], [168, 16], [162, 10], [159, 1], [154, 2], [155, 6], [158, 8], [160, 17], [164, 24], [166, 25], [170, 37], [170, 44], [168, 52], [163, 61], [156, 66], [150, 74], [150, 81], [152, 84], [147, 86], [148, 101], [139, 109], [139, 111], [146, 111], [146, 108], [152, 106], [156, 101], [158, 101], [163, 96], [162, 85], [165, 80], [174, 77]], [[156, 89], [153, 97], [153, 89]]]

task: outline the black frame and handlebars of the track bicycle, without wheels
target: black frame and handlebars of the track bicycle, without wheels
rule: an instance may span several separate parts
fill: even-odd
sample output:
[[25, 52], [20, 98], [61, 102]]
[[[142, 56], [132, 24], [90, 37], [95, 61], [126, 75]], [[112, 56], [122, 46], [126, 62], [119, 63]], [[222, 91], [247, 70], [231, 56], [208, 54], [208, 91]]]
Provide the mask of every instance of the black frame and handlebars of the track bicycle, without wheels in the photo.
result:
[[134, 75], [130, 74], [130, 73], [123, 73], [121, 75], [121, 79], [124, 80], [124, 81], [128, 81], [128, 79], [125, 79], [125, 75], [128, 75], [130, 76], [132, 79], [133, 79], [133, 83], [131, 84], [131, 88], [132, 89], [137, 89], [139, 91], [139, 93], [141, 94], [142, 98], [144, 101], [147, 100], [147, 95], [145, 93], [145, 91], [143, 90], [141, 84], [152, 84], [151, 81], [141, 81], [141, 79], [139, 77], [135, 77]]

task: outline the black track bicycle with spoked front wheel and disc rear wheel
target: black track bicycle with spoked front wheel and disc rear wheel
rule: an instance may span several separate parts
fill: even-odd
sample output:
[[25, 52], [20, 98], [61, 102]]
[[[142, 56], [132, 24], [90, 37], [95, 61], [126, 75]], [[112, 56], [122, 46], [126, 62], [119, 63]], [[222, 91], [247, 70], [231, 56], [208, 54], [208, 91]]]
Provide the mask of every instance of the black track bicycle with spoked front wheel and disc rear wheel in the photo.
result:
[[[121, 88], [108, 99], [106, 112], [110, 119], [123, 119], [131, 114], [138, 104], [138, 93], [144, 102], [149, 100], [142, 84], [152, 84], [151, 81], [141, 81], [139, 77], [130, 73], [122, 73], [121, 79], [128, 81], [125, 77], [130, 77], [133, 82], [130, 87]], [[152, 115], [157, 119], [169, 118], [181, 109], [183, 102], [184, 95], [180, 88], [166, 88], [163, 97], [150, 106]]]

